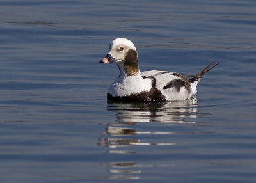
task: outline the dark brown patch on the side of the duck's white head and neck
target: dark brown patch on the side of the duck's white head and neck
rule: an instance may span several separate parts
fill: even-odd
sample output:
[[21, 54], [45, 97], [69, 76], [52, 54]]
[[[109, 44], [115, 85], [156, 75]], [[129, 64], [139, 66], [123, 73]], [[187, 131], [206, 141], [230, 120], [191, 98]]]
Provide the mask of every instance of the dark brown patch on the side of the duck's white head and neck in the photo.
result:
[[134, 76], [139, 72], [138, 56], [135, 50], [129, 49], [125, 54], [124, 67], [128, 76]]

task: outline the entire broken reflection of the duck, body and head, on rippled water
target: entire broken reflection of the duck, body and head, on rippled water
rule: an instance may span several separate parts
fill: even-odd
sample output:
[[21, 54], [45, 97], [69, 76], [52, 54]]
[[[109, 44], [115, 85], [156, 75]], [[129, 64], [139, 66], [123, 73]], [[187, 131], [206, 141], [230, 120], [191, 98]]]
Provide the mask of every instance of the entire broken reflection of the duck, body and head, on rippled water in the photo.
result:
[[[148, 122], [164, 123], [164, 126], [172, 126], [174, 123], [195, 123], [198, 114], [198, 101], [196, 98], [175, 102], [149, 102], [129, 103], [108, 101], [107, 109], [115, 111], [116, 121], [106, 127], [108, 138], [99, 139], [99, 145], [110, 148], [110, 154], [136, 154], [136, 148], [132, 146], [172, 146], [175, 141], [154, 141], [154, 138], [143, 138], [146, 135], [172, 135], [170, 128], [156, 130], [143, 129], [143, 124]], [[138, 128], [138, 124], [140, 128]], [[142, 127], [141, 127], [142, 126]], [[148, 129], [148, 128], [147, 128]], [[148, 141], [150, 140], [150, 141]], [[130, 147], [130, 148], [125, 148]], [[123, 149], [122, 149], [123, 148]], [[154, 165], [148, 165], [152, 166]], [[159, 165], [160, 166], [160, 165]], [[173, 164], [161, 164], [161, 166], [175, 166]], [[136, 162], [113, 162], [108, 164], [111, 179], [140, 179], [140, 167]], [[138, 170], [136, 170], [138, 168]]]

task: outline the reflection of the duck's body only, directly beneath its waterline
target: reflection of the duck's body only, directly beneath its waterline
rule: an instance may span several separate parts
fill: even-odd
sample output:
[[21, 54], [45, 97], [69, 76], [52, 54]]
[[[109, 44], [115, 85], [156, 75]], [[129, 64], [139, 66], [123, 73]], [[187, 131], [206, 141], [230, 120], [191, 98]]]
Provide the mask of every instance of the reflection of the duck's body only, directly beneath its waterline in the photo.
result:
[[173, 102], [128, 103], [108, 101], [107, 109], [116, 111], [116, 120], [122, 124], [137, 122], [191, 122], [196, 118], [196, 98]]

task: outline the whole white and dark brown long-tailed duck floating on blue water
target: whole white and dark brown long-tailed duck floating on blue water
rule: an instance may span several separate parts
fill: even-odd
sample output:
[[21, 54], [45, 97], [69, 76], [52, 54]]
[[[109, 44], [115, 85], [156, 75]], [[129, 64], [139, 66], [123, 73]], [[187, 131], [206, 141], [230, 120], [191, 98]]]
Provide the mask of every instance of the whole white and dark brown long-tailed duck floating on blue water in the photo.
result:
[[118, 78], [109, 86], [108, 99], [138, 102], [189, 99], [196, 94], [196, 86], [205, 72], [218, 65], [212, 61], [190, 79], [162, 70], [140, 72], [136, 48], [126, 38], [113, 40], [108, 54], [100, 63], [116, 63], [120, 71]]

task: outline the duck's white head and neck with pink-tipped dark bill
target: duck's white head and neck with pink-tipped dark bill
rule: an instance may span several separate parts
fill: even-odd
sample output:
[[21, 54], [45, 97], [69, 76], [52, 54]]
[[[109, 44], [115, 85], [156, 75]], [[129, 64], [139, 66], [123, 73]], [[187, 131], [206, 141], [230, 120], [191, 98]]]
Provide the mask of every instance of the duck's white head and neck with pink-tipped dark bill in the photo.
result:
[[116, 63], [120, 74], [134, 76], [139, 73], [138, 54], [135, 45], [126, 38], [117, 38], [109, 45], [108, 54], [100, 63]]

